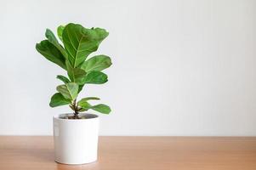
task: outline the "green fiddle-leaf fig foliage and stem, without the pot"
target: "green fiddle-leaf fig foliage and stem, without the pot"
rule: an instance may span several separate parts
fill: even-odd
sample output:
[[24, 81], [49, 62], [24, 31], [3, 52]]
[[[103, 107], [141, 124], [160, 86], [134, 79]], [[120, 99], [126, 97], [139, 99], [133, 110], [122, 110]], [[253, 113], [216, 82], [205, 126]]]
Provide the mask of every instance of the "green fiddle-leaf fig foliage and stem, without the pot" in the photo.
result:
[[107, 105], [89, 104], [89, 100], [99, 100], [98, 97], [77, 99], [86, 84], [103, 84], [108, 81], [107, 75], [102, 71], [111, 66], [111, 58], [104, 54], [89, 57], [108, 34], [102, 28], [85, 28], [70, 23], [57, 28], [59, 42], [53, 31], [46, 29], [46, 39], [37, 43], [36, 49], [43, 57], [59, 65], [67, 73], [67, 76], [57, 76], [63, 84], [57, 86], [57, 93], [52, 96], [49, 103], [51, 107], [69, 105], [74, 111], [74, 115], [71, 116], [74, 119], [79, 118], [78, 114], [82, 111], [94, 110], [103, 114], [111, 112]]

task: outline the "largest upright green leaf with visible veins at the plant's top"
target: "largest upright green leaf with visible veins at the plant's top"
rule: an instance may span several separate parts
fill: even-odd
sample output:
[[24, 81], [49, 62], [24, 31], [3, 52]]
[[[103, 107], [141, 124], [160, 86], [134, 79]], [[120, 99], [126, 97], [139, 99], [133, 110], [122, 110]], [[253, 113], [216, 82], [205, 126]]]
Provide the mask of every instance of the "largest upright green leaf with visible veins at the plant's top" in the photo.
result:
[[108, 32], [100, 28], [87, 29], [73, 23], [65, 26], [62, 38], [73, 68], [82, 64], [89, 54], [96, 51], [107, 36]]

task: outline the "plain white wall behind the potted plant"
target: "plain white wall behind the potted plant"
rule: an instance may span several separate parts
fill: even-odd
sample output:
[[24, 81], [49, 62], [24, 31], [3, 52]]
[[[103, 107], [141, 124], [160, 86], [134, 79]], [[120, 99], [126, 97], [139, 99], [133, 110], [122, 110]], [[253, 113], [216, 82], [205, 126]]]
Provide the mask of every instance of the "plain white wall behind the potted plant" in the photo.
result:
[[35, 50], [45, 28], [110, 31], [109, 82], [84, 95], [111, 105], [101, 135], [256, 135], [256, 1], [0, 3], [0, 134], [51, 134], [48, 101], [64, 74]]

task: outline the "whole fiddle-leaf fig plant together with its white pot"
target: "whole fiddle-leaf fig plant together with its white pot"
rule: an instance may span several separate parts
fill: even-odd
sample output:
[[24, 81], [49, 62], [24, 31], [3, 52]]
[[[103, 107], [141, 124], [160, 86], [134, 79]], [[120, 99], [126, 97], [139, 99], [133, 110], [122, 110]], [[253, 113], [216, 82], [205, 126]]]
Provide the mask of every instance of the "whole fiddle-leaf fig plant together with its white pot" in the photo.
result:
[[107, 75], [102, 71], [111, 66], [111, 58], [100, 54], [88, 58], [95, 52], [108, 32], [101, 28], [85, 28], [70, 23], [59, 26], [58, 37], [49, 29], [46, 40], [37, 43], [37, 51], [46, 59], [59, 65], [67, 77], [58, 75], [62, 84], [50, 99], [49, 105], [69, 105], [73, 113], [54, 116], [55, 161], [65, 164], [83, 164], [97, 160], [99, 117], [82, 113], [88, 110], [109, 114], [111, 108], [104, 104], [92, 105], [89, 100], [98, 97], [77, 99], [86, 84], [103, 84]]

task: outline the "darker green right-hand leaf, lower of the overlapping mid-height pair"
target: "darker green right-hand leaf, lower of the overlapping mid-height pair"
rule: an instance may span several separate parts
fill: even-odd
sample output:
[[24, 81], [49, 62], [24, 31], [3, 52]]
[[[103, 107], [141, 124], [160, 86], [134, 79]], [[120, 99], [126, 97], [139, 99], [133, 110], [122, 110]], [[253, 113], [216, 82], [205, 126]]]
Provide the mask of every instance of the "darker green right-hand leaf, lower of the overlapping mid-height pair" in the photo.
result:
[[88, 84], [103, 84], [105, 82], [107, 82], [107, 76], [100, 71], [90, 71], [85, 78], [85, 83]]

